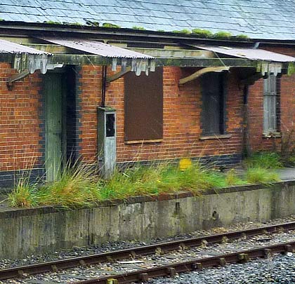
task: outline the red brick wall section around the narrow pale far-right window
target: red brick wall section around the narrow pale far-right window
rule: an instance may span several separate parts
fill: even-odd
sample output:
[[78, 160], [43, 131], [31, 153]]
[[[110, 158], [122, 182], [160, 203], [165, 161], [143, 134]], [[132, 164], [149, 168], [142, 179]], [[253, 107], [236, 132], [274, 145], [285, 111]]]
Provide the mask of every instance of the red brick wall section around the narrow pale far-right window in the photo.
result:
[[[294, 48], [265, 48], [284, 55], [295, 56]], [[295, 130], [295, 75], [282, 75], [277, 80], [280, 108], [279, 132], [282, 137]], [[249, 88], [249, 140], [253, 151], [280, 149], [281, 137], [263, 137], [263, 79]]]

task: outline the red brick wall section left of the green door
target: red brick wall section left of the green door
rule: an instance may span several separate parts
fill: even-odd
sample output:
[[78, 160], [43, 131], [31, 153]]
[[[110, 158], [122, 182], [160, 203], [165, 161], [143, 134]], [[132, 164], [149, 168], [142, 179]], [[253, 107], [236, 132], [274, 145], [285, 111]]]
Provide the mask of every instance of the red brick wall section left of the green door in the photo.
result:
[[18, 170], [40, 168], [44, 144], [39, 74], [15, 82], [8, 90], [6, 79], [15, 74], [8, 63], [0, 63], [0, 181], [13, 180]]

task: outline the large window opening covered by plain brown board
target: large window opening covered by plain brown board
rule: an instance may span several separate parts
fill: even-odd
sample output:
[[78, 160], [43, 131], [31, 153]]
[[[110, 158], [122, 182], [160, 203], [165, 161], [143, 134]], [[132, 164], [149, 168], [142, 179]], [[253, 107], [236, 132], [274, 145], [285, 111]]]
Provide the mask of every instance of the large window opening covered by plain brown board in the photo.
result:
[[125, 140], [159, 140], [163, 137], [163, 69], [148, 76], [129, 72], [125, 84]]

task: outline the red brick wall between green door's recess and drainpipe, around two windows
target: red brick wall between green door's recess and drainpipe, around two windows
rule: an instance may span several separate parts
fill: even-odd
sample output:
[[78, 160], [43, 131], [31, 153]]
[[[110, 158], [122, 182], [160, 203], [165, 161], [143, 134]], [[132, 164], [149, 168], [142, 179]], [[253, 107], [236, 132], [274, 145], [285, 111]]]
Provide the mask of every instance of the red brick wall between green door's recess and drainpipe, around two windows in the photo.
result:
[[[97, 155], [97, 114], [101, 97], [101, 67], [91, 65], [79, 73], [79, 145], [81, 156], [89, 162]], [[109, 74], [111, 73], [108, 70]], [[159, 159], [240, 155], [242, 153], [242, 90], [238, 88], [237, 74], [228, 76], [226, 100], [225, 139], [199, 140], [202, 135], [202, 95], [199, 79], [178, 86], [183, 76], [192, 69], [164, 67], [164, 135], [162, 142], [124, 143], [124, 79], [118, 79], [107, 87], [106, 105], [117, 109], [117, 162], [149, 161]], [[98, 122], [99, 123], [99, 122]]]

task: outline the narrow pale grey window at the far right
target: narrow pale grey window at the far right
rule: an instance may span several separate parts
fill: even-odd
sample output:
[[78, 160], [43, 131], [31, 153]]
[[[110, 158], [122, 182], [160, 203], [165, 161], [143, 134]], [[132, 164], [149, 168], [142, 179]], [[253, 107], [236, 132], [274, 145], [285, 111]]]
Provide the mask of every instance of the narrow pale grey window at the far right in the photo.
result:
[[277, 77], [263, 80], [263, 132], [277, 131]]

